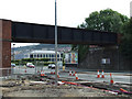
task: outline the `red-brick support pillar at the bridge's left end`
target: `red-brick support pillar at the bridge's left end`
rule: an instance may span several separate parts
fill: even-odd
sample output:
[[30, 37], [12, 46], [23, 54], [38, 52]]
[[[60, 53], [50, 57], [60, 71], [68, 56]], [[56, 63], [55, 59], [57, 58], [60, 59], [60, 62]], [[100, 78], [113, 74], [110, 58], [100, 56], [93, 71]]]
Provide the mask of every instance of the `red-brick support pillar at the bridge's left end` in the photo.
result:
[[0, 76], [10, 74], [11, 67], [11, 21], [0, 20]]

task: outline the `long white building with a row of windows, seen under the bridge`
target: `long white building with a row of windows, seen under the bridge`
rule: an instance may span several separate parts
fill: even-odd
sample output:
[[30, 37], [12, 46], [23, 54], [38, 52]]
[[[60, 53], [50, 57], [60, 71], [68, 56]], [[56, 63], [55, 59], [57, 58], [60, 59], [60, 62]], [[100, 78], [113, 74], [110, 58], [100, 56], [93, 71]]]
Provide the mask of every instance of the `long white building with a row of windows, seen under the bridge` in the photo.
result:
[[[55, 62], [55, 51], [32, 51], [24, 55], [24, 58], [50, 58], [50, 62]], [[63, 55], [57, 52], [57, 61], [63, 61]]]

